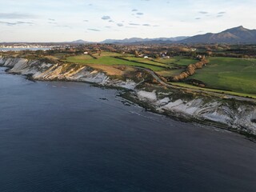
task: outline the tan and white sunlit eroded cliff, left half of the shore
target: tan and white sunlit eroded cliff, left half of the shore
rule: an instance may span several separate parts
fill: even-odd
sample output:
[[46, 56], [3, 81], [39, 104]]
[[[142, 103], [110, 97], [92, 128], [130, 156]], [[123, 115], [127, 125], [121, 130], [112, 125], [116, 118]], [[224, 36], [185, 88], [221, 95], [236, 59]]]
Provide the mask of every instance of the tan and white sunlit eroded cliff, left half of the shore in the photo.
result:
[[38, 60], [29, 61], [26, 58], [4, 58], [0, 56], [0, 65], [9, 67], [10, 73], [30, 75], [36, 80], [66, 80], [77, 82], [94, 82], [103, 86], [118, 86], [133, 90], [136, 82], [127, 79], [110, 79], [101, 71], [89, 66], [78, 64], [51, 64]]

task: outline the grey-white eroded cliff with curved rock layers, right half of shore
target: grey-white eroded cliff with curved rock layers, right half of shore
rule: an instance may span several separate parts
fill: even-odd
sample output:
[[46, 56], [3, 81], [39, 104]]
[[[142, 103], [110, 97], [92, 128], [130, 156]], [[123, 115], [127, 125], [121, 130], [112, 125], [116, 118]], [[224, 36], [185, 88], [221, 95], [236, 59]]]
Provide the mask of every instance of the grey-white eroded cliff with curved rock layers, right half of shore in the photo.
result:
[[[166, 93], [165, 93], [166, 94]], [[220, 98], [178, 98], [157, 91], [138, 90], [138, 99], [150, 102], [160, 113], [170, 113], [187, 119], [220, 122], [235, 130], [256, 135], [256, 105], [249, 102], [225, 101]]]

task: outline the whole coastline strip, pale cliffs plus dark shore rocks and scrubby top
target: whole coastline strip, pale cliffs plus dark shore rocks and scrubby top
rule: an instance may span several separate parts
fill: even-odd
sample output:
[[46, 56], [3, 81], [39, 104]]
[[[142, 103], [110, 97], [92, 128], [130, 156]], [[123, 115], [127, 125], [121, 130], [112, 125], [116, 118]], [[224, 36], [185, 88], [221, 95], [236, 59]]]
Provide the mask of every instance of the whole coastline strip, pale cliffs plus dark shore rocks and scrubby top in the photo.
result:
[[8, 73], [26, 75], [33, 81], [89, 82], [98, 86], [124, 89], [122, 97], [146, 110], [186, 122], [198, 122], [256, 138], [256, 105], [209, 95], [170, 90], [162, 85], [148, 85], [126, 78], [110, 78], [92, 67], [51, 64], [25, 58], [3, 58], [0, 66]]

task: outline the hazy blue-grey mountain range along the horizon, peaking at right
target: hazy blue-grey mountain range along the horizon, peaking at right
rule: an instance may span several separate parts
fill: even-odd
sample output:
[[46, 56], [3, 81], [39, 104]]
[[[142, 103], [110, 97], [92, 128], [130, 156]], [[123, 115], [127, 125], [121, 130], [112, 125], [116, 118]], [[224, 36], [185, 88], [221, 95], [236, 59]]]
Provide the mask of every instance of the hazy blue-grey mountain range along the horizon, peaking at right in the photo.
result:
[[[79, 39], [71, 43], [90, 43]], [[256, 30], [249, 30], [243, 26], [234, 27], [224, 30], [220, 33], [198, 34], [192, 37], [180, 36], [176, 38], [125, 38], [106, 39], [99, 43], [112, 44], [156, 44], [156, 43], [256, 43]]]

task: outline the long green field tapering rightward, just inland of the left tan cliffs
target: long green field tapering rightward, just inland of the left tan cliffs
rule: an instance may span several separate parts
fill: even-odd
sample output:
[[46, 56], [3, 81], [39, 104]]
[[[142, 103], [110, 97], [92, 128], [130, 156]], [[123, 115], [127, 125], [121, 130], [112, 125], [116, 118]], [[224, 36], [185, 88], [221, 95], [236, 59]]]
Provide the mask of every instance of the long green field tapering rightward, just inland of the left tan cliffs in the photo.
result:
[[[105, 54], [109, 55], [109, 54]], [[150, 70], [158, 71], [158, 70], [165, 70], [162, 66], [154, 66], [150, 64], [144, 64], [139, 62], [131, 62], [121, 58], [114, 58], [112, 56], [101, 56], [97, 59], [90, 57], [89, 55], [78, 55], [68, 57], [64, 60], [64, 62], [71, 62], [71, 63], [79, 63], [79, 64], [99, 64], [99, 65], [122, 65], [122, 66], [140, 66]]]

